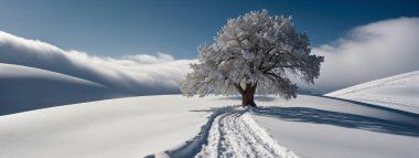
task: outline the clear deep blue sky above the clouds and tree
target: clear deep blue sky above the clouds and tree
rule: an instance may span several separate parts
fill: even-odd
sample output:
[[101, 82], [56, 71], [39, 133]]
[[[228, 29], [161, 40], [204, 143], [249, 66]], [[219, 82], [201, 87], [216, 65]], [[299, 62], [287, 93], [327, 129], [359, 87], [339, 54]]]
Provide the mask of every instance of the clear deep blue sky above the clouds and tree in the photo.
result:
[[261, 9], [292, 15], [318, 46], [356, 25], [418, 17], [419, 0], [0, 0], [0, 30], [95, 55], [195, 59], [228, 18]]

